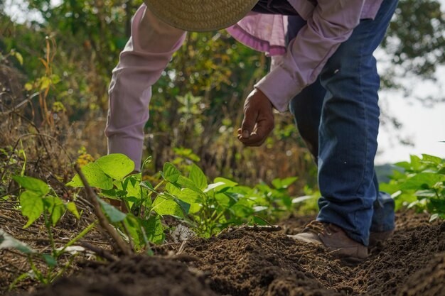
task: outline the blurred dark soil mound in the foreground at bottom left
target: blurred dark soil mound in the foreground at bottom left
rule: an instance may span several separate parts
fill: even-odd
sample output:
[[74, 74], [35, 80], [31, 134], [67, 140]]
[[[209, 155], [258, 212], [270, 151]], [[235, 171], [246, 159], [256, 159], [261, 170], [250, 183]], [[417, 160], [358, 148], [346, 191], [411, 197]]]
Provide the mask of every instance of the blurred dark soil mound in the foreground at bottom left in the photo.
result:
[[33, 296], [216, 296], [202, 273], [165, 258], [134, 256], [58, 280]]

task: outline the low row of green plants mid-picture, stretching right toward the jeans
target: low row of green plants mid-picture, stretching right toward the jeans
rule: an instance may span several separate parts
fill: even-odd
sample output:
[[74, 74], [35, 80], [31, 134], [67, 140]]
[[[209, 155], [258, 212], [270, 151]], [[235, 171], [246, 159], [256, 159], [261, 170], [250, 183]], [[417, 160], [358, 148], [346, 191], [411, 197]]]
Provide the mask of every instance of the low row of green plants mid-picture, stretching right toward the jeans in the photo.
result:
[[296, 177], [277, 178], [272, 182], [273, 188], [264, 183], [247, 187], [216, 177], [208, 184], [197, 165], [192, 164], [185, 177], [171, 163], [164, 165], [163, 177], [167, 181], [165, 192], [157, 198], [174, 200], [178, 204], [185, 202], [186, 221], [203, 237], [218, 234], [232, 225], [264, 225], [268, 224], [267, 220], [277, 220], [291, 210], [288, 187], [296, 181]]

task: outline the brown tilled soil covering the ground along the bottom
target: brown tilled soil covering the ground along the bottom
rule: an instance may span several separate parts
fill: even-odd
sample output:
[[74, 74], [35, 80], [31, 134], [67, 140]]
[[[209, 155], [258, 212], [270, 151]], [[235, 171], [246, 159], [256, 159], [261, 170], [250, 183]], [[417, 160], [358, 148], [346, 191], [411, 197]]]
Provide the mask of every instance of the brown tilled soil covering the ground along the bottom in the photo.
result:
[[306, 221], [291, 218], [278, 232], [228, 229], [181, 251], [163, 246], [156, 257], [85, 268], [32, 295], [445, 295], [445, 222], [400, 213], [395, 236], [350, 266], [286, 237]]

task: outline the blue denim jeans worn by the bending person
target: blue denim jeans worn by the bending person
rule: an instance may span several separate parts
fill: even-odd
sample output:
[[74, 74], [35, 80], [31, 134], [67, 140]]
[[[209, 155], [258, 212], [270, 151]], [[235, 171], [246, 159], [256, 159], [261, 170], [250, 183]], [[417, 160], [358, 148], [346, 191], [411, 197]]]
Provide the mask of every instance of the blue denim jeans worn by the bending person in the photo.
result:
[[[340, 226], [365, 246], [370, 231], [395, 228], [394, 201], [379, 192], [374, 170], [380, 77], [372, 53], [396, 6], [397, 0], [385, 0], [374, 20], [361, 20], [328, 60], [318, 80], [289, 106], [318, 164], [321, 198], [317, 220]], [[301, 18], [289, 19], [294, 33], [301, 25]]]

